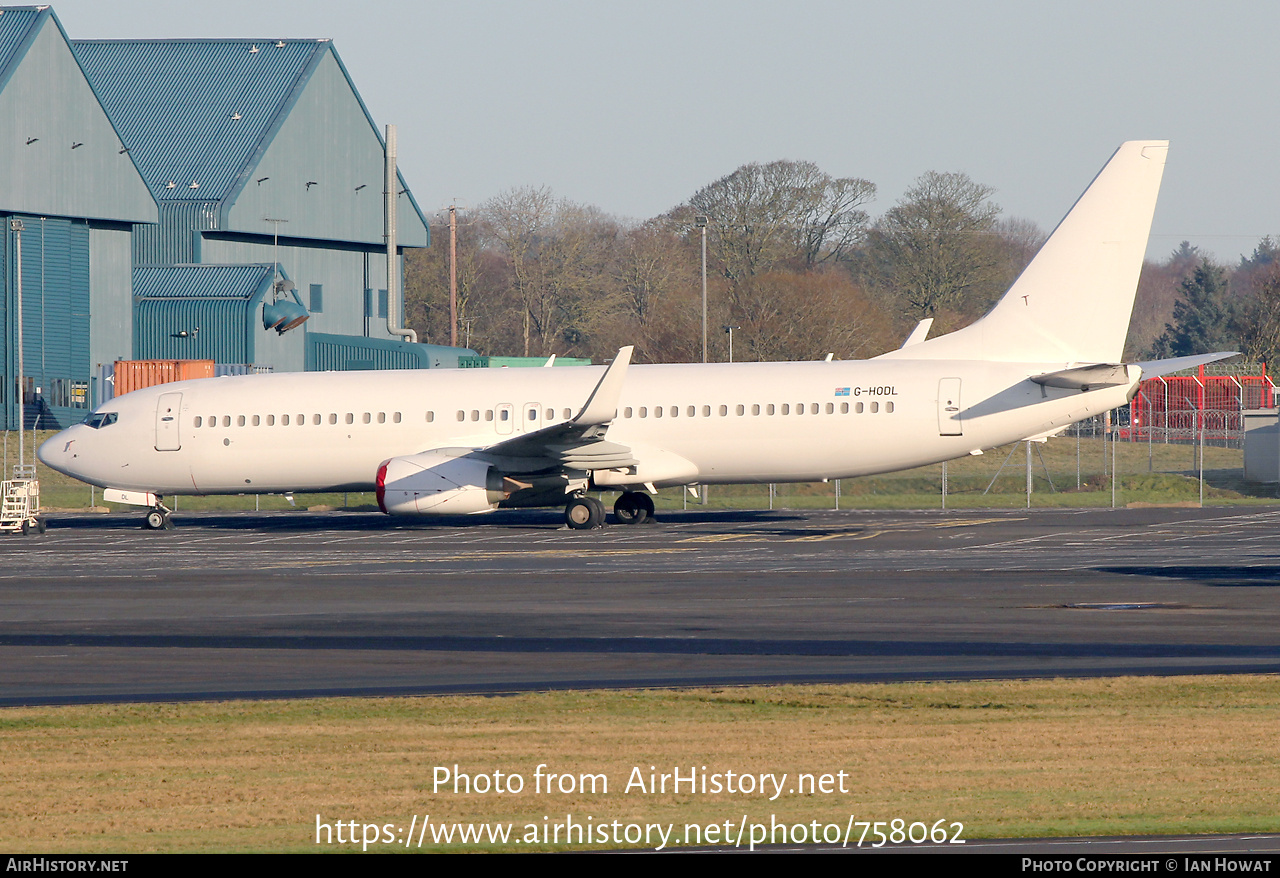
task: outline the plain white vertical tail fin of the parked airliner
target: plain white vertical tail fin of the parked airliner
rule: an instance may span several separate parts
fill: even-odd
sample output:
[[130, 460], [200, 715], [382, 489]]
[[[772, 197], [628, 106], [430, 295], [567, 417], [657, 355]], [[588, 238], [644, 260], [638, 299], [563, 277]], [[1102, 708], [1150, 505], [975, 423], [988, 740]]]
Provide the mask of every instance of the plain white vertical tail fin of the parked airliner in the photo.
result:
[[1123, 143], [1004, 298], [899, 360], [1117, 363], [1169, 141]]

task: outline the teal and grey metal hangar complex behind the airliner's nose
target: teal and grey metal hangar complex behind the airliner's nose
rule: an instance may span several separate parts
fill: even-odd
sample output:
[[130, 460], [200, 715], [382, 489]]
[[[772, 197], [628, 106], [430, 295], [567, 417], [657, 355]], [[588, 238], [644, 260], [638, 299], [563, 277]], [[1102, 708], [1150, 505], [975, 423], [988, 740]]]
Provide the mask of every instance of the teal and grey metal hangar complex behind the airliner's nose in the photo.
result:
[[28, 425], [82, 419], [116, 360], [301, 371], [474, 355], [397, 331], [403, 250], [428, 246], [428, 224], [397, 172], [388, 259], [387, 145], [332, 41], [68, 40], [52, 9], [4, 8], [0, 114], [0, 427], [19, 384]]

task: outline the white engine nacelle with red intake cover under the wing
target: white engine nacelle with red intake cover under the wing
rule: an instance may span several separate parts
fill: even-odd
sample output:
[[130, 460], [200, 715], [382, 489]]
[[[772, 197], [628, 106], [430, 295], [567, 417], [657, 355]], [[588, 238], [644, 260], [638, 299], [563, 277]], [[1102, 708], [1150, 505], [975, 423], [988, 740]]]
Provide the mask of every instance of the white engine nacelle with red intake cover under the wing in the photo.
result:
[[393, 457], [378, 467], [378, 507], [398, 516], [492, 512], [504, 498], [502, 476], [467, 449]]

